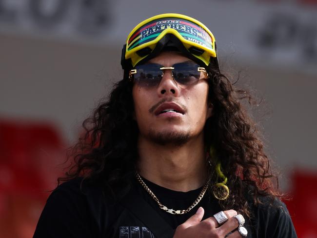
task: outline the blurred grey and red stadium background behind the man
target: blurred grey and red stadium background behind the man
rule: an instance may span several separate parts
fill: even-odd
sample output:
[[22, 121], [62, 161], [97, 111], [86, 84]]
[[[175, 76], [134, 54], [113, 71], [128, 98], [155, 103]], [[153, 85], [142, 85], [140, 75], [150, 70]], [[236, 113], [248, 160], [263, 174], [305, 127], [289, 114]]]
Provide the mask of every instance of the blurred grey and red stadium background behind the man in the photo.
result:
[[121, 49], [161, 13], [202, 21], [251, 87], [299, 238], [317, 238], [317, 0], [0, 0], [0, 237], [30, 238], [81, 122], [122, 78]]

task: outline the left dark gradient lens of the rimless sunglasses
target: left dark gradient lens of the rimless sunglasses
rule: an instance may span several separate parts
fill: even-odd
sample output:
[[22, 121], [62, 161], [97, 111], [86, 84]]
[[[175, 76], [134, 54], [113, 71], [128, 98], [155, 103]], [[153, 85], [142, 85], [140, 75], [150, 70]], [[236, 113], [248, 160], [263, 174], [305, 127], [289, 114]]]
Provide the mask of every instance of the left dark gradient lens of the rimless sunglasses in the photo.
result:
[[134, 75], [134, 80], [140, 86], [157, 86], [162, 76], [160, 67], [162, 66], [156, 63], [138, 65], [135, 67], [137, 73]]

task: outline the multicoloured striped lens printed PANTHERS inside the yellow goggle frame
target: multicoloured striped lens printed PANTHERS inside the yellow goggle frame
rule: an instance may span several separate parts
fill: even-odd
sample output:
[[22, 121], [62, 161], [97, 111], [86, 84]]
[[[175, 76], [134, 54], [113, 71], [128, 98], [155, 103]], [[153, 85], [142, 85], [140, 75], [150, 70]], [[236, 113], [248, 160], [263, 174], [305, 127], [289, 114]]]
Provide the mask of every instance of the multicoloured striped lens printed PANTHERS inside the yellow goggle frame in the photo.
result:
[[211, 36], [198, 24], [181, 18], [161, 18], [148, 22], [137, 29], [128, 40], [128, 51], [155, 40], [165, 29], [175, 29], [186, 40], [213, 49]]

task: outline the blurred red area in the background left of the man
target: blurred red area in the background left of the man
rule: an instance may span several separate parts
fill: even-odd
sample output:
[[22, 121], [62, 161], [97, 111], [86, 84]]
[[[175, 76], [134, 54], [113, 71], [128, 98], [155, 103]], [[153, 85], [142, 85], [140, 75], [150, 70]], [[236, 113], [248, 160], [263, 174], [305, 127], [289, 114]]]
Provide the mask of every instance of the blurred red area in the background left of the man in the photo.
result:
[[0, 120], [0, 237], [33, 236], [61, 175], [63, 144], [50, 123]]

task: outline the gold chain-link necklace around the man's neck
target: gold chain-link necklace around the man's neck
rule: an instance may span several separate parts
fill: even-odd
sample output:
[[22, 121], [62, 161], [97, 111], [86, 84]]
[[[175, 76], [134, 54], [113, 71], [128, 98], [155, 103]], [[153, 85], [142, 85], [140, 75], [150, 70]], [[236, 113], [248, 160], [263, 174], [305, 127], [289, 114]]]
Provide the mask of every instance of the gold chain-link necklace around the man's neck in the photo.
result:
[[206, 182], [206, 184], [202, 187], [199, 195], [198, 195], [198, 198], [196, 198], [196, 200], [193, 202], [192, 205], [190, 205], [189, 208], [187, 208], [186, 210], [174, 210], [174, 209], [169, 209], [167, 208], [166, 206], [164, 206], [162, 203], [159, 202], [158, 198], [154, 195], [154, 193], [151, 191], [151, 189], [149, 189], [148, 186], [146, 186], [146, 184], [144, 183], [144, 181], [141, 179], [139, 173], [137, 172], [136, 173], [137, 175], [137, 179], [139, 181], [139, 183], [142, 185], [142, 187], [146, 190], [146, 192], [148, 192], [151, 197], [158, 203], [158, 206], [160, 209], [164, 210], [165, 212], [168, 212], [170, 214], [185, 214], [185, 213], [188, 213], [190, 210], [192, 210], [197, 204], [198, 202], [201, 200], [201, 198], [204, 196], [206, 190], [207, 190], [207, 187], [208, 187], [208, 182]]

